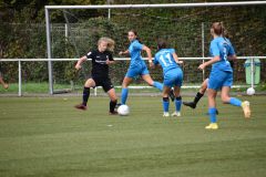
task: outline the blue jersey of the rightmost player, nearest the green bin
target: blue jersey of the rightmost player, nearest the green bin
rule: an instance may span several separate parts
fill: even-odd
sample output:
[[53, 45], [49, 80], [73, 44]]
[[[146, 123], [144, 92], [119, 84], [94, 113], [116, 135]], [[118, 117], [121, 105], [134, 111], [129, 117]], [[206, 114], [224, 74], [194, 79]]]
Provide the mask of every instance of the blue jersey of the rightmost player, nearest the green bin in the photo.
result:
[[228, 39], [223, 37], [215, 38], [211, 42], [209, 54], [212, 58], [219, 56], [221, 59], [218, 62], [213, 64], [212, 71], [221, 70], [221, 71], [233, 72], [231, 67], [231, 63], [227, 60], [227, 56], [234, 55], [235, 50]]

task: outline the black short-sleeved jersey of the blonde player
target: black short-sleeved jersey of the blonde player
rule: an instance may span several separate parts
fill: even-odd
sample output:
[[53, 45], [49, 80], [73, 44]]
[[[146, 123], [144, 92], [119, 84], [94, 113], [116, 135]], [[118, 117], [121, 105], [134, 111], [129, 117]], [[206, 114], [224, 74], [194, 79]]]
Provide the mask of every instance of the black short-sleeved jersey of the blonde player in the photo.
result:
[[109, 77], [106, 60], [113, 61], [113, 55], [110, 51], [100, 52], [94, 50], [86, 54], [86, 59], [92, 59], [91, 74], [93, 77]]

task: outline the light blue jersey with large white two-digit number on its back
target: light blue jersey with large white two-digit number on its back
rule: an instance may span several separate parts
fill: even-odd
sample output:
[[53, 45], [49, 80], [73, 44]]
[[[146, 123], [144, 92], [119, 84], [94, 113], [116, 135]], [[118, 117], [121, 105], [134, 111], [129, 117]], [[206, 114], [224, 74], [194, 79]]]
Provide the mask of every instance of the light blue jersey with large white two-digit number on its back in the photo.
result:
[[163, 67], [164, 74], [172, 70], [180, 67], [180, 65], [175, 62], [173, 58], [173, 53], [175, 53], [174, 49], [161, 49], [154, 58], [154, 64], [161, 64]]

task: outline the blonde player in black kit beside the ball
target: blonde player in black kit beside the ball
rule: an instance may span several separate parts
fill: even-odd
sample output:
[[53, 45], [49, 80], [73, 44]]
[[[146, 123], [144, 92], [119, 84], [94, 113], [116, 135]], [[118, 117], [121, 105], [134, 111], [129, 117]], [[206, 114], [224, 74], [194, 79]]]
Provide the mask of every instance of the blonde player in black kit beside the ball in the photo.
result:
[[83, 101], [81, 104], [75, 105], [75, 108], [86, 110], [86, 103], [90, 97], [90, 87], [102, 86], [104, 92], [109, 94], [110, 97], [110, 114], [117, 114], [114, 111], [117, 103], [117, 97], [113, 84], [109, 77], [109, 65], [114, 63], [111, 51], [113, 51], [114, 41], [109, 38], [101, 38], [98, 41], [98, 50], [90, 51], [86, 55], [82, 56], [75, 69], [80, 70], [81, 64], [88, 60], [92, 59], [92, 71], [91, 77], [86, 80], [83, 88]]

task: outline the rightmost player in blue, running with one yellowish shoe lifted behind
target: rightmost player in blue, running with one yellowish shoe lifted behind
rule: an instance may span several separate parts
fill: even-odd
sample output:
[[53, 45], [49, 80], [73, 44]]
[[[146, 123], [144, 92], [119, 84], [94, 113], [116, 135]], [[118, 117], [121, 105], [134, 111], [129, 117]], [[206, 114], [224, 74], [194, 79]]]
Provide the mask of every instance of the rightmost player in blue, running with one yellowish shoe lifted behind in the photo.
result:
[[209, 53], [213, 59], [201, 64], [198, 69], [204, 70], [206, 66], [212, 65], [212, 71], [207, 83], [208, 114], [211, 124], [205, 128], [217, 129], [218, 125], [216, 121], [215, 98], [218, 90], [222, 90], [221, 98], [223, 103], [243, 107], [246, 118], [250, 117], [250, 108], [249, 102], [242, 102], [236, 97], [229, 97], [229, 90], [233, 84], [233, 70], [228, 59], [234, 59], [236, 55], [232, 43], [224, 37], [223, 24], [221, 22], [213, 23], [211, 28], [211, 34], [214, 38], [209, 46]]

